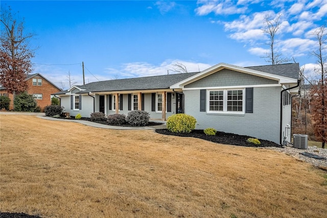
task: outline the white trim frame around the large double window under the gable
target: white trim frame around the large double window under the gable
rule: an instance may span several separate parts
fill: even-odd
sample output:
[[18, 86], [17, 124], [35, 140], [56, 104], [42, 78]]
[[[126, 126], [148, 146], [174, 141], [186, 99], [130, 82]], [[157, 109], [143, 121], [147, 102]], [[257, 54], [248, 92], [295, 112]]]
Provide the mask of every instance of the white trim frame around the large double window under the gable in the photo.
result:
[[[242, 98], [242, 111], [227, 111], [227, 91], [233, 90], [242, 90], [243, 98]], [[224, 91], [224, 105], [223, 111], [210, 110], [210, 92], [211, 91]], [[216, 113], [216, 114], [245, 114], [245, 88], [226, 88], [226, 89], [209, 89], [206, 92], [206, 108], [208, 113]]]

